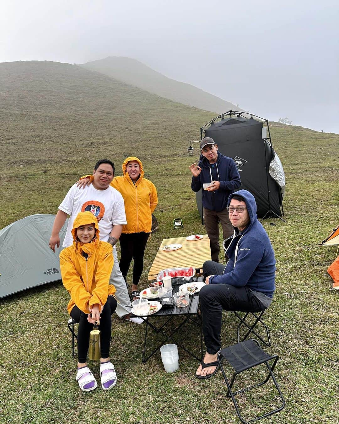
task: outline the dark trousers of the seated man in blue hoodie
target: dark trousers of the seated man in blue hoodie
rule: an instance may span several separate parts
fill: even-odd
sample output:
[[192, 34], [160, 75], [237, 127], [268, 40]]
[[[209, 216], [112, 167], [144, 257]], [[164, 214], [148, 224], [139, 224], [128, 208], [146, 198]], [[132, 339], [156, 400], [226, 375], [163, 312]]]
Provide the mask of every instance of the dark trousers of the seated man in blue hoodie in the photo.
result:
[[[203, 264], [206, 276], [222, 275], [225, 265], [213, 261]], [[216, 354], [221, 348], [222, 310], [261, 312], [266, 307], [245, 287], [234, 287], [229, 284], [206, 285], [200, 290], [200, 307], [203, 318], [203, 334], [206, 350]]]

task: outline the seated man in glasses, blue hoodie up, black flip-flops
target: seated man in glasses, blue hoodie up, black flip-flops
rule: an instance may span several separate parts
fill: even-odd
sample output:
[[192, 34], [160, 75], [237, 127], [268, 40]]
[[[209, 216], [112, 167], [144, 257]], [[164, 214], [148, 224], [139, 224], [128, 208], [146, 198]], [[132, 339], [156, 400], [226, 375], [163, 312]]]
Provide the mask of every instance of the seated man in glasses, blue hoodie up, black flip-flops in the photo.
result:
[[227, 265], [203, 264], [206, 286], [199, 297], [206, 354], [195, 374], [199, 379], [218, 370], [222, 310], [261, 312], [270, 306], [275, 290], [274, 252], [258, 221], [253, 195], [247, 190], [231, 194], [227, 209], [234, 228], [233, 238], [224, 241]]

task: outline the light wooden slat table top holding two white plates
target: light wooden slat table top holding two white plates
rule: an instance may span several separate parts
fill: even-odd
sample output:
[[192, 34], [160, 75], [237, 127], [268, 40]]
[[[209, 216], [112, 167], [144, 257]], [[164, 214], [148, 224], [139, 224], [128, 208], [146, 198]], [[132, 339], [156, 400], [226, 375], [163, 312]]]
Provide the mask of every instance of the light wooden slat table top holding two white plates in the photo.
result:
[[[158, 273], [166, 268], [197, 268], [201, 269], [205, 261], [211, 260], [211, 249], [207, 234], [203, 234], [200, 240], [187, 241], [186, 237], [164, 239], [158, 249], [153, 264], [148, 272], [148, 279], [154, 280]], [[164, 246], [169, 244], [181, 244], [179, 250], [166, 252]]]

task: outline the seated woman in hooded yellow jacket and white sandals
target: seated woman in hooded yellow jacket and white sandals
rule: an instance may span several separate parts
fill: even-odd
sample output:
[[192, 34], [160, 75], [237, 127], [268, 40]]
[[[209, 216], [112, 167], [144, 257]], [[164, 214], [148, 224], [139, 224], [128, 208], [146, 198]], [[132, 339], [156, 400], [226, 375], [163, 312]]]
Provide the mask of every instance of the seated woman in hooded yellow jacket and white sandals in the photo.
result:
[[112, 296], [115, 287], [108, 285], [113, 268], [112, 246], [99, 240], [97, 219], [91, 212], [80, 212], [75, 218], [73, 245], [60, 253], [62, 283], [71, 296], [67, 309], [78, 326], [78, 371], [76, 379], [82, 391], [97, 387], [87, 367], [89, 333], [95, 321], [100, 322], [100, 378], [103, 390], [117, 382], [114, 365], [109, 358], [111, 315], [117, 307]]

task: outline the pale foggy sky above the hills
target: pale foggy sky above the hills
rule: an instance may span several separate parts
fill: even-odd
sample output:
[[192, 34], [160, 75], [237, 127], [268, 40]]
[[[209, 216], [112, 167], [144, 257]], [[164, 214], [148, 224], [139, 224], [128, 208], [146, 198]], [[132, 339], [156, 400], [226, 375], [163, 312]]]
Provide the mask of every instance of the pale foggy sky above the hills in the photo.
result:
[[7, 3], [0, 62], [127, 56], [269, 120], [339, 133], [338, 1]]

